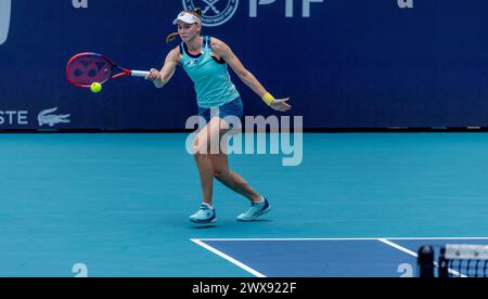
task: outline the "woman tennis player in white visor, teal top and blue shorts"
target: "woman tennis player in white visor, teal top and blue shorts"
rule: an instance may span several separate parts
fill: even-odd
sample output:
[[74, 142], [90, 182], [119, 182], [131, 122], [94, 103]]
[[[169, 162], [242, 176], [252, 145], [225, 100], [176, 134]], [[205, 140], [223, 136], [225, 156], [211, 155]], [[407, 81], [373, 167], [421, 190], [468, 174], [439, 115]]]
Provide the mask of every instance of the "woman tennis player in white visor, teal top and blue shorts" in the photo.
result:
[[[223, 41], [202, 36], [202, 11], [184, 10], [178, 14], [174, 25], [178, 32], [167, 37], [167, 42], [179, 35], [182, 42], [166, 56], [160, 70], [152, 68], [147, 80], [156, 88], [165, 86], [174, 76], [177, 65], [183, 67], [193, 80], [198, 104], [198, 115], [205, 118], [206, 126], [196, 134], [193, 151], [203, 191], [201, 208], [190, 216], [190, 221], [200, 224], [217, 220], [213, 207], [214, 178], [234, 192], [251, 200], [251, 208], [237, 216], [237, 221], [254, 221], [270, 211], [267, 198], [254, 191], [237, 173], [229, 169], [227, 153], [221, 148], [218, 154], [208, 154], [209, 145], [221, 144], [221, 138], [229, 131], [226, 116], [243, 116], [243, 104], [235, 86], [230, 79], [228, 65], [262, 101], [271, 108], [285, 112], [291, 108], [286, 103], [290, 98], [274, 99], [251, 74]], [[210, 115], [210, 109], [218, 113]]]

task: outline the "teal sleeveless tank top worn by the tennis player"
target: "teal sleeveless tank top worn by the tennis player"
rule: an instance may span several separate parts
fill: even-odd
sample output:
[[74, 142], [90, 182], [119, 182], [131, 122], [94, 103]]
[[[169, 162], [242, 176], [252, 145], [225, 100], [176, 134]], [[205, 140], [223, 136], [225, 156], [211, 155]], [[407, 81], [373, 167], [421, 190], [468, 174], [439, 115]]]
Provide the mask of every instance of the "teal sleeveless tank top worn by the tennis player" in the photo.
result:
[[210, 37], [203, 37], [201, 54], [190, 54], [184, 42], [180, 44], [180, 65], [195, 86], [198, 107], [215, 108], [240, 98], [227, 63], [211, 55]]

